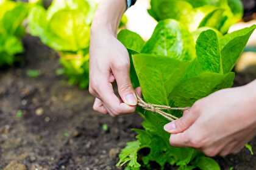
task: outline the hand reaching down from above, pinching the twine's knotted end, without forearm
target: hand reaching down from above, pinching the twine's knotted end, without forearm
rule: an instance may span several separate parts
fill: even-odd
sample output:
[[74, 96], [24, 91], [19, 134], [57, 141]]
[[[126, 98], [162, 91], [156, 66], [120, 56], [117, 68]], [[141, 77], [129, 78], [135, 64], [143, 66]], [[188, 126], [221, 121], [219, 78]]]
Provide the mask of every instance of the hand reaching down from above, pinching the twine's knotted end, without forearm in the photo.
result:
[[[133, 113], [137, 98], [130, 81], [130, 58], [126, 47], [109, 32], [91, 34], [90, 93], [96, 97], [93, 109], [112, 116]], [[118, 85], [118, 98], [112, 83]]]

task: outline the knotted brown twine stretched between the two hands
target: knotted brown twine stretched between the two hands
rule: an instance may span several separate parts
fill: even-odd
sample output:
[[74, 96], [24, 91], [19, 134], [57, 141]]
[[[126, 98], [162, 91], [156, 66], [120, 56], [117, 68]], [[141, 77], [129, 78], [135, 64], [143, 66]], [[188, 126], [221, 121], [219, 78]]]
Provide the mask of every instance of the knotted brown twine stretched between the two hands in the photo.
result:
[[138, 100], [138, 106], [141, 106], [144, 110], [148, 110], [150, 112], [160, 114], [163, 117], [167, 118], [169, 121], [177, 120], [178, 117], [168, 114], [168, 113], [164, 112], [163, 110], [188, 110], [188, 109], [190, 109], [190, 107], [171, 107], [171, 106], [165, 106], [165, 105], [146, 103], [145, 101], [142, 100], [142, 98], [138, 94], [136, 94], [136, 97]]

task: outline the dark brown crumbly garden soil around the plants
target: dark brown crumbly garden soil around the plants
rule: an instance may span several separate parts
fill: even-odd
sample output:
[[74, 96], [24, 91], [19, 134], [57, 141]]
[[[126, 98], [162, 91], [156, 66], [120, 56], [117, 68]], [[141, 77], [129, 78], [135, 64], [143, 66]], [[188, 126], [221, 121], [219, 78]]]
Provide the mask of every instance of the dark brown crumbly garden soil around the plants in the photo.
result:
[[[55, 52], [30, 36], [24, 44], [29, 49], [26, 66], [0, 73], [0, 169], [13, 160], [32, 170], [117, 169], [118, 152], [134, 140], [130, 129], [140, 128], [141, 118], [97, 114], [87, 90], [55, 75], [60, 67]], [[41, 75], [30, 78], [28, 69], [40, 70]], [[236, 76], [235, 85], [255, 78], [256, 69], [251, 68]], [[251, 144], [256, 148], [256, 140]], [[256, 156], [246, 149], [216, 159], [223, 169], [256, 169]]]

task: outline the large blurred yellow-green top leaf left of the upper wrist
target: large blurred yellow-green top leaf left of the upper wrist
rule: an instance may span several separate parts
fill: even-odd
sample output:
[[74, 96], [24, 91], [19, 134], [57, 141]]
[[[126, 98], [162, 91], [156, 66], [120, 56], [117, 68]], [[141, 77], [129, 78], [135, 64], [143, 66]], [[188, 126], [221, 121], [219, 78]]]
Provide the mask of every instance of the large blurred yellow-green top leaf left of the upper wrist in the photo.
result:
[[55, 50], [86, 49], [95, 7], [90, 0], [55, 0], [48, 10], [37, 5], [29, 14], [29, 32]]

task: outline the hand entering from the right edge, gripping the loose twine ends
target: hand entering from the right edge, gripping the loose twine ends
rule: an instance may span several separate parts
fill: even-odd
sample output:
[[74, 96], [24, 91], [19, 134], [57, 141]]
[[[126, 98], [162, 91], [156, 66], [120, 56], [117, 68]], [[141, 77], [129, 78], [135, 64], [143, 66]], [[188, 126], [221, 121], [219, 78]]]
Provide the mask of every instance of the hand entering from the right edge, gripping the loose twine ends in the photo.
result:
[[173, 146], [206, 155], [236, 154], [256, 134], [256, 95], [251, 86], [224, 89], [197, 101], [179, 120], [166, 124]]

